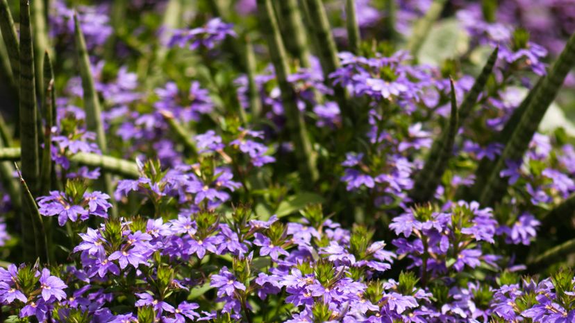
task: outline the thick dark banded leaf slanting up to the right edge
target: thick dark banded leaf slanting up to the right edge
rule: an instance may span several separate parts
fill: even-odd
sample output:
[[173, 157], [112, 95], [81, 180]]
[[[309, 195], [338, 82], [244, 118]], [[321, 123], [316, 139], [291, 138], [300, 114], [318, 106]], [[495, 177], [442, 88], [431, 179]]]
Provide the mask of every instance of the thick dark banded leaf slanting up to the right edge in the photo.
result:
[[525, 154], [533, 134], [537, 131], [541, 120], [551, 102], [557, 96], [559, 89], [567, 73], [575, 65], [575, 33], [569, 38], [565, 49], [560, 53], [559, 58], [540, 81], [531, 94], [531, 98], [525, 104], [519, 123], [512, 128], [510, 137], [505, 143], [505, 148], [501, 156], [494, 164], [492, 171], [487, 174], [487, 181], [481, 190], [479, 202], [486, 206], [492, 206], [499, 202], [505, 193], [508, 181], [502, 178], [499, 173], [506, 167], [506, 161], [517, 161]]

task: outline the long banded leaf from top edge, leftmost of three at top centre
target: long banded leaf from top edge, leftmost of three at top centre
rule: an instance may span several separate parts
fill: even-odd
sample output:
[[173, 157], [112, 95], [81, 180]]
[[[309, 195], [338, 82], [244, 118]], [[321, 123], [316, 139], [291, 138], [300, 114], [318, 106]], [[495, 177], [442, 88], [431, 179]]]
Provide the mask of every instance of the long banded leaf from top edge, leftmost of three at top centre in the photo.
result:
[[281, 101], [285, 109], [288, 131], [294, 144], [300, 176], [302, 179], [308, 179], [304, 183], [309, 187], [317, 180], [319, 173], [317, 172], [315, 155], [306, 130], [306, 123], [304, 123], [303, 115], [297, 107], [294, 89], [288, 82], [288, 59], [271, 0], [258, 0], [258, 15], [262, 23], [262, 32], [267, 39], [269, 54], [272, 58], [276, 78], [281, 90]]

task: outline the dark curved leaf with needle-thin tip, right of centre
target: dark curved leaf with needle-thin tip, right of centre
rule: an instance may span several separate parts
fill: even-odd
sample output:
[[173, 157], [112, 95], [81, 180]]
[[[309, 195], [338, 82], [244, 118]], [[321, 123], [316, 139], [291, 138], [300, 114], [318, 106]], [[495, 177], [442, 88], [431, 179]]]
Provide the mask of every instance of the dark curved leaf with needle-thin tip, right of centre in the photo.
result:
[[451, 114], [449, 125], [441, 136], [433, 141], [429, 155], [422, 171], [415, 179], [411, 193], [414, 202], [427, 202], [433, 198], [435, 189], [440, 184], [441, 178], [449, 159], [453, 155], [453, 145], [458, 131], [459, 117], [453, 80], [451, 80]]

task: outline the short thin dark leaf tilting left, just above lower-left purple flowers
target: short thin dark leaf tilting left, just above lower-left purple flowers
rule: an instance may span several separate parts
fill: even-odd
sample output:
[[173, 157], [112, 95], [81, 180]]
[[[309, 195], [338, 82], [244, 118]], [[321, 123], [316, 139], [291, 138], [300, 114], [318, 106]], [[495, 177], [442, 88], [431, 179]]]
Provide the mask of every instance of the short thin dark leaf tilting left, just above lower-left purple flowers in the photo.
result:
[[[22, 194], [22, 198], [26, 201], [23, 203], [24, 211], [31, 214], [31, 233], [33, 233], [34, 238], [35, 256], [31, 257], [30, 259], [40, 259], [40, 261], [44, 263], [49, 263], [49, 245], [46, 232], [44, 231], [44, 220], [42, 220], [40, 211], [38, 211], [38, 204], [36, 204], [30, 189], [28, 189], [28, 185], [22, 177], [22, 173], [20, 173], [18, 165], [16, 163], [14, 163], [14, 165], [16, 167], [16, 171], [18, 172], [20, 183], [22, 184], [22, 191], [24, 191]], [[29, 230], [29, 227], [26, 227], [26, 230]], [[31, 247], [31, 245], [28, 247]]]

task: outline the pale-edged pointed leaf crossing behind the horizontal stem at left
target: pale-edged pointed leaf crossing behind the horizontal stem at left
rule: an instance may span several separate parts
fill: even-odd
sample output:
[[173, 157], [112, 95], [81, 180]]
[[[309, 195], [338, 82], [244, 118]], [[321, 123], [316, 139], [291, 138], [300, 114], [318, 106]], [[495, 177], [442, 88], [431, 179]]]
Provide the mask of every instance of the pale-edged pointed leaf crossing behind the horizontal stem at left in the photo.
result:
[[[108, 147], [106, 144], [106, 134], [103, 130], [103, 123], [101, 119], [101, 107], [98, 98], [98, 93], [94, 87], [94, 78], [92, 78], [92, 70], [90, 69], [90, 58], [88, 57], [88, 49], [86, 49], [86, 42], [78, 15], [74, 14], [74, 27], [76, 38], [76, 50], [78, 51], [78, 63], [80, 65], [80, 74], [82, 78], [82, 88], [84, 92], [84, 110], [86, 112], [86, 126], [88, 130], [96, 133], [96, 142], [103, 154], [106, 154]], [[101, 186], [103, 191], [108, 195], [113, 196], [112, 177], [105, 171], [102, 172]], [[112, 209], [115, 213], [115, 208]]]

